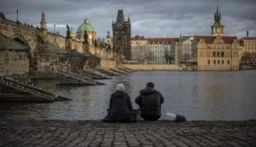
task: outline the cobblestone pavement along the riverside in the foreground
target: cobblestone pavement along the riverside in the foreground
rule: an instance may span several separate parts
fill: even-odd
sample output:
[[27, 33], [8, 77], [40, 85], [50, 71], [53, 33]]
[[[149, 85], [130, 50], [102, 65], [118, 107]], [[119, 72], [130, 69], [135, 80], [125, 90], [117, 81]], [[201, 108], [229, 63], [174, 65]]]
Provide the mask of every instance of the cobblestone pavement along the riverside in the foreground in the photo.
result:
[[256, 146], [256, 121], [65, 121], [0, 117], [0, 146]]

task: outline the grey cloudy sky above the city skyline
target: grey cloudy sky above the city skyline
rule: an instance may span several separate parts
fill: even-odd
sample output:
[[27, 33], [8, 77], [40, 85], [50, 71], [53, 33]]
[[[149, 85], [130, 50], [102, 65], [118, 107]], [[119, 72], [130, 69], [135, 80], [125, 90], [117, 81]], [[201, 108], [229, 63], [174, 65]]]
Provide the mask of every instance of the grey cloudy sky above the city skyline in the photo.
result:
[[97, 37], [112, 35], [112, 20], [118, 9], [130, 17], [132, 37], [178, 37], [210, 35], [216, 6], [222, 14], [225, 35], [244, 37], [249, 30], [256, 37], [256, 0], [1, 0], [0, 12], [7, 19], [39, 25], [45, 11], [49, 31], [65, 35], [66, 24], [75, 32], [87, 17], [97, 31]]

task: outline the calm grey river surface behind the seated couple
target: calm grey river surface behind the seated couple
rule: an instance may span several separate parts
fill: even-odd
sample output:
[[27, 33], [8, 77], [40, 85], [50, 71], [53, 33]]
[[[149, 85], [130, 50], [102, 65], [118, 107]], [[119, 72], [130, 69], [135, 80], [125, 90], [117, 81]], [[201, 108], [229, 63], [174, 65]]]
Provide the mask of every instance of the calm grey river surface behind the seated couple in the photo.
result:
[[102, 80], [104, 86], [55, 86], [53, 80], [33, 83], [71, 101], [15, 104], [4, 107], [0, 116], [33, 119], [102, 119], [107, 114], [110, 95], [123, 83], [134, 103], [148, 81], [164, 95], [166, 112], [183, 114], [188, 120], [256, 119], [256, 71], [137, 71]]

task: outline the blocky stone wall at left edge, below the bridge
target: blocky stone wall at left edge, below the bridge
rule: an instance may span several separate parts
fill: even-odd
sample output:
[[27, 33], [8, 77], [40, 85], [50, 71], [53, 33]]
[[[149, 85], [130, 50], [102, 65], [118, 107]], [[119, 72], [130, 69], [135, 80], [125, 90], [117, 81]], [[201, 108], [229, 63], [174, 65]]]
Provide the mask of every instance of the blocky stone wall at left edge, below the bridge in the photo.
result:
[[0, 74], [5, 76], [22, 76], [27, 78], [29, 73], [29, 60], [27, 52], [0, 51]]

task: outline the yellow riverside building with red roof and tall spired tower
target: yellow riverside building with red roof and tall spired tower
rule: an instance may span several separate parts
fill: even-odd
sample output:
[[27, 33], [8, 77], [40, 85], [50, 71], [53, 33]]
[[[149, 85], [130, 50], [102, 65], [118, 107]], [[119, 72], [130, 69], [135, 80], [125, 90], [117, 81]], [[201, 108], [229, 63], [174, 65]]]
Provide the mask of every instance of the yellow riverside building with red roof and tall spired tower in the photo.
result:
[[218, 6], [214, 20], [211, 36], [194, 37], [193, 56], [198, 70], [239, 70], [240, 42], [236, 36], [225, 36]]

